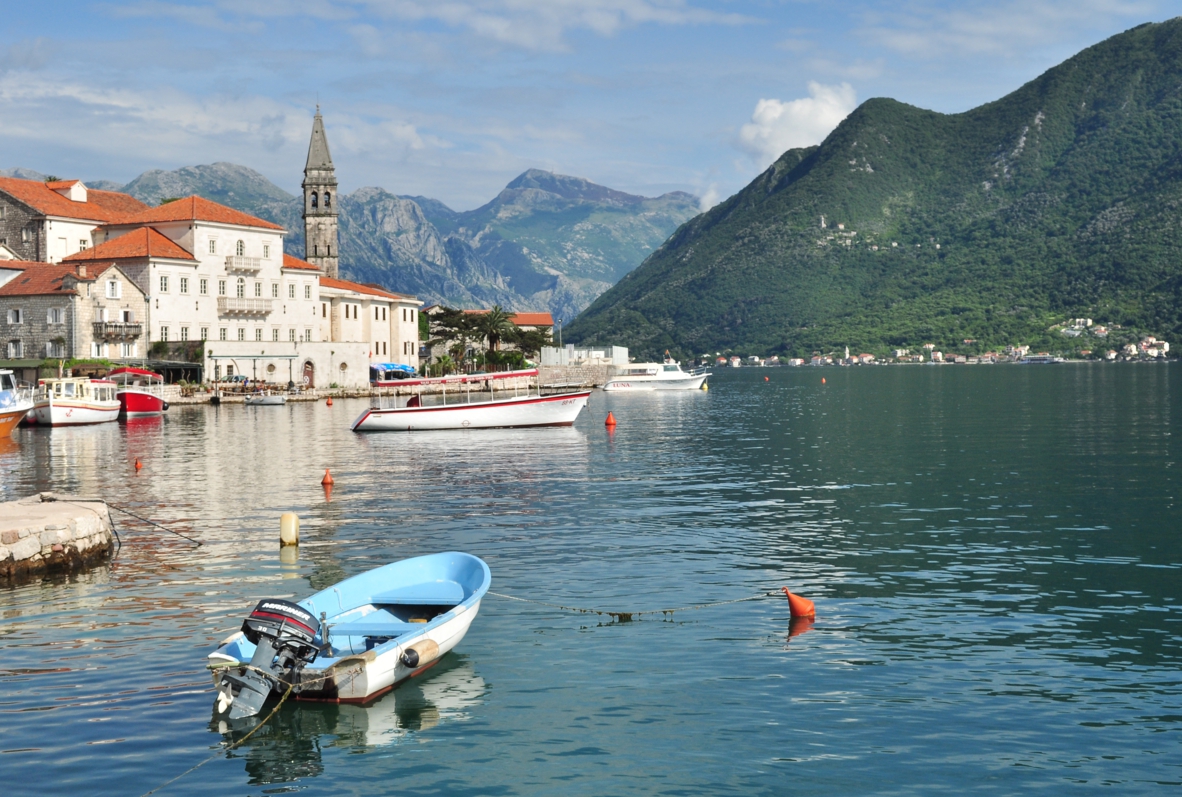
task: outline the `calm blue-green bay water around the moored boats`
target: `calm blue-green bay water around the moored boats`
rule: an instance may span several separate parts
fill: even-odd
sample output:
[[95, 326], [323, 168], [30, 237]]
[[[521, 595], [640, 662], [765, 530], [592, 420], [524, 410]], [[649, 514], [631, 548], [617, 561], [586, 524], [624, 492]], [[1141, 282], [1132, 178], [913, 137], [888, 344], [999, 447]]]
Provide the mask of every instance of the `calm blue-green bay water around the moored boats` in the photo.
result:
[[782, 597], [629, 623], [488, 597], [428, 676], [368, 708], [284, 706], [157, 793], [1182, 784], [1177, 365], [726, 371], [597, 393], [548, 430], [355, 435], [364, 406], [176, 407], [0, 449], [0, 499], [103, 495], [206, 542], [116, 516], [110, 566], [0, 591], [6, 795], [182, 773], [239, 738], [203, 660], [256, 600], [449, 549], [552, 603], [788, 585], [818, 617], [790, 637]]

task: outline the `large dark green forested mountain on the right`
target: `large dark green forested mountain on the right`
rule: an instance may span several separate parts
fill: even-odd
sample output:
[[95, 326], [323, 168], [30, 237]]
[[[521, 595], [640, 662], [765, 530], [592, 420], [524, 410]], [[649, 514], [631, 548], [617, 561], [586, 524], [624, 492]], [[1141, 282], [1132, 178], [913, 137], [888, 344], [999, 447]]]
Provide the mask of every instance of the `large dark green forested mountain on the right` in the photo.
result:
[[[565, 338], [798, 356], [1176, 338], [1180, 209], [1182, 18], [963, 114], [863, 103], [683, 225]], [[1069, 338], [1074, 317], [1121, 331]]]

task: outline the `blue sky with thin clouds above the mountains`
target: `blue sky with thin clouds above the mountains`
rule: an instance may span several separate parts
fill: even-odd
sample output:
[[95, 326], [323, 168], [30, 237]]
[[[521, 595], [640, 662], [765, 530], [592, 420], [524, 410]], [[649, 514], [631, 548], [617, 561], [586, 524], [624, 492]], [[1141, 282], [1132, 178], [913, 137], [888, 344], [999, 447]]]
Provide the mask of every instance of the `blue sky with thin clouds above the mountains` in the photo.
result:
[[0, 168], [126, 182], [229, 161], [299, 193], [483, 205], [528, 168], [703, 208], [859, 103], [956, 114], [1176, 0], [6, 4]]

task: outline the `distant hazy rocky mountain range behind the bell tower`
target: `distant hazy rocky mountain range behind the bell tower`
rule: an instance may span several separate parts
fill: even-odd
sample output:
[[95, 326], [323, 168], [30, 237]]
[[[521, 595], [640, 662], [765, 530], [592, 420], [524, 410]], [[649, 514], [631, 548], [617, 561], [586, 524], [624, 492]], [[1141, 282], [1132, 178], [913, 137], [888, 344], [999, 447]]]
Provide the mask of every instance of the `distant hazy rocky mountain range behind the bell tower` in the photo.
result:
[[[106, 183], [87, 184], [98, 182]], [[116, 189], [149, 205], [189, 194], [222, 202], [282, 225], [286, 251], [304, 254], [300, 197], [247, 167], [157, 169]], [[361, 188], [338, 202], [344, 277], [428, 304], [500, 304], [566, 319], [697, 213], [697, 200], [681, 192], [647, 199], [533, 169], [469, 212], [381, 188]]]

